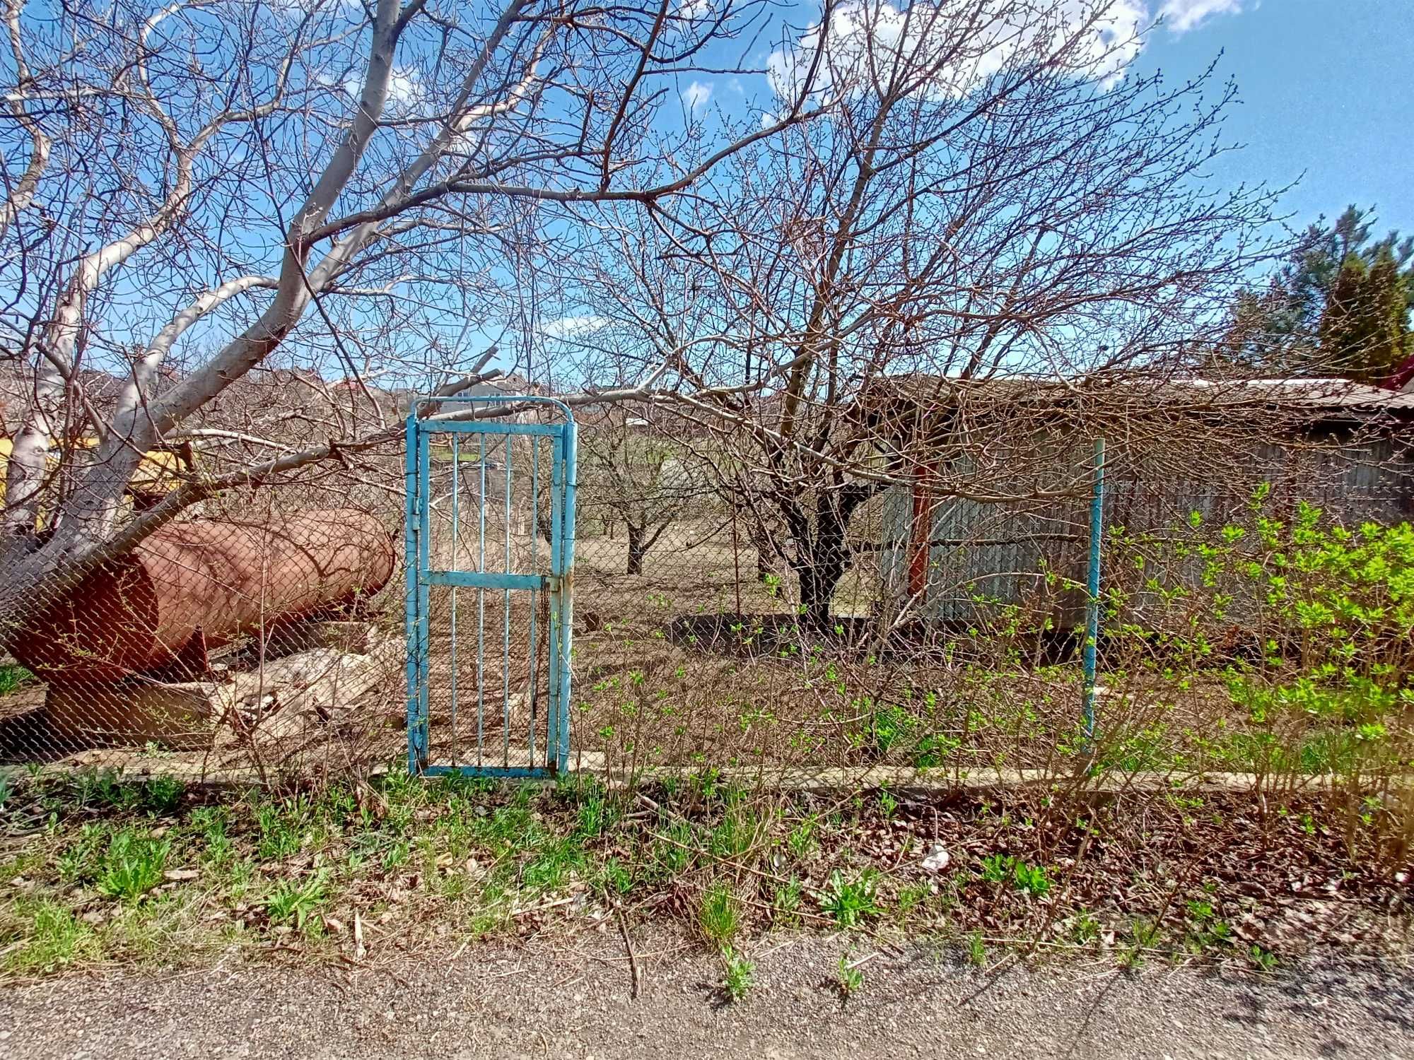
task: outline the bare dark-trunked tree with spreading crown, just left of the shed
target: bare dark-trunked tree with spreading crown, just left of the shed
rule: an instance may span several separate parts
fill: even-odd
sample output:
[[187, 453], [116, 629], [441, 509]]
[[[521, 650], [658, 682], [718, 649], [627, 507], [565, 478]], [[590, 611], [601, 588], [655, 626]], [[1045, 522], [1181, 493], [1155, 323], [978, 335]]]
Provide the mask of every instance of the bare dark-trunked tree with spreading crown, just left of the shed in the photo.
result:
[[[731, 195], [696, 198], [689, 223], [624, 213], [605, 240], [592, 298], [617, 370], [666, 362], [677, 407], [720, 425], [728, 488], [814, 628], [851, 517], [949, 423], [947, 386], [915, 410], [925, 430], [881, 420], [881, 382], [1182, 372], [1268, 253], [1271, 195], [1205, 182], [1232, 86], [1135, 76], [1134, 11], [851, 0], [768, 64], [765, 123], [814, 69], [827, 119], [715, 171]], [[986, 496], [967, 469], [998, 441], [929, 458], [933, 495]]]

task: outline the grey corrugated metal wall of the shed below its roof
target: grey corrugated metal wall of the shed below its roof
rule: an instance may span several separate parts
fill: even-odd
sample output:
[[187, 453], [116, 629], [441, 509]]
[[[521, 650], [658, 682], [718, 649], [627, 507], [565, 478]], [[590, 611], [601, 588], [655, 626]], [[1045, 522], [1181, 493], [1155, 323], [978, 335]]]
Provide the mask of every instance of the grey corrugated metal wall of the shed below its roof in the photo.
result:
[[[1087, 537], [1083, 478], [1090, 449], [1060, 440], [1055, 454], [1056, 466], [1042, 468], [1038, 478], [1068, 478], [1082, 486], [1073, 497], [1045, 503], [988, 503], [964, 497], [935, 502], [926, 594], [919, 608], [922, 618], [960, 626], [995, 613], [998, 605], [1025, 603], [1041, 609], [1039, 613], [1049, 609], [1058, 625], [1080, 620], [1083, 592], [1048, 588], [1042, 568], [1049, 565], [1062, 578], [1083, 582]], [[1117, 454], [1107, 471], [1106, 527], [1123, 526], [1131, 534], [1167, 536], [1171, 541], [1189, 534], [1196, 541], [1247, 509], [1250, 490], [1232, 482], [1203, 479], [1202, 469], [1184, 479], [1145, 473], [1143, 464]], [[954, 473], [966, 473], [966, 469]], [[1340, 447], [1266, 445], [1253, 454], [1251, 481], [1253, 486], [1271, 482], [1277, 496], [1273, 512], [1284, 519], [1291, 517], [1295, 497], [1321, 506], [1346, 526], [1366, 520], [1400, 522], [1414, 514], [1414, 461], [1390, 438]], [[998, 492], [1008, 486], [1024, 492], [1021, 482], [994, 485]], [[891, 490], [882, 512], [884, 584], [891, 598], [902, 602], [908, 598], [912, 495], [904, 489]], [[1198, 530], [1191, 522], [1193, 513], [1199, 517]], [[1203, 574], [1205, 561], [1196, 553], [1178, 555], [1169, 548], [1162, 551], [1161, 565], [1107, 567], [1102, 584], [1128, 594], [1124, 620], [1154, 629], [1182, 622], [1195, 599], [1213, 592], [1233, 596], [1229, 616], [1234, 623], [1260, 611], [1261, 601], [1253, 589], [1203, 585]], [[1167, 588], [1186, 587], [1189, 595], [1165, 601], [1162, 594], [1145, 588], [1148, 578]]]

